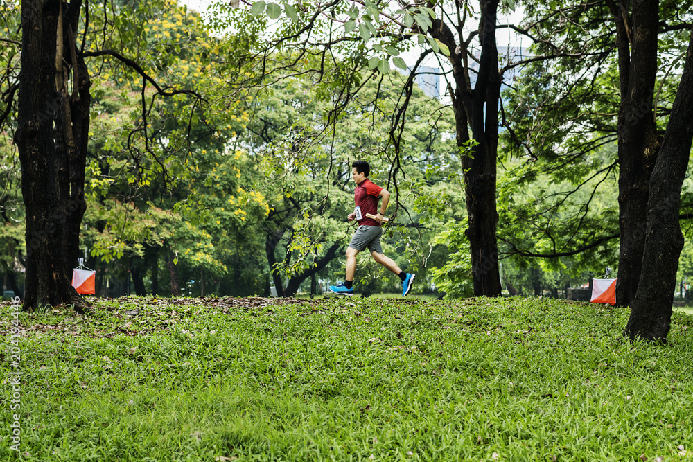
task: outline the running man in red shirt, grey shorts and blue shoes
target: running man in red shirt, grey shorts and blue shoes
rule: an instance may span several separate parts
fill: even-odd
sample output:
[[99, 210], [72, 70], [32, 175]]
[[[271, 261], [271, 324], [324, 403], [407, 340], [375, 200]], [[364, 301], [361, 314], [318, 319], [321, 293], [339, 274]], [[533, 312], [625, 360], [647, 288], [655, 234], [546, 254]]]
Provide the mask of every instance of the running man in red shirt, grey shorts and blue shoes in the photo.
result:
[[[389, 203], [390, 193], [368, 179], [370, 172], [371, 167], [367, 161], [355, 161], [351, 164], [351, 178], [356, 183], [356, 190], [353, 193], [356, 208], [354, 208], [353, 213], [347, 215], [347, 219], [350, 222], [358, 220], [359, 226], [353, 233], [347, 249], [347, 279], [343, 283], [331, 285], [330, 290], [335, 294], [353, 295], [356, 255], [367, 248], [377, 263], [399, 276], [403, 285], [402, 296], [406, 296], [412, 290], [415, 275], [403, 272], [392, 258], [383, 255], [383, 247], [380, 245], [380, 235], [383, 234], [381, 223]], [[383, 197], [380, 212], [378, 212], [378, 196]], [[367, 213], [376, 217], [369, 218], [366, 216]]]

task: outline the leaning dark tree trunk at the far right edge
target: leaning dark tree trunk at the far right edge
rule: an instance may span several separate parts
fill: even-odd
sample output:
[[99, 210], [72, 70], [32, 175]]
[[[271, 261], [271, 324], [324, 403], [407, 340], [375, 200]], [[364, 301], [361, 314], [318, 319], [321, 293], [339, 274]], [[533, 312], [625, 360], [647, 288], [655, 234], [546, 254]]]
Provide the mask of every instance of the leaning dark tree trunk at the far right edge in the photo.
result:
[[681, 185], [693, 143], [693, 30], [662, 148], [652, 172], [642, 272], [625, 334], [666, 341], [671, 328], [678, 257], [683, 234], [678, 221]]

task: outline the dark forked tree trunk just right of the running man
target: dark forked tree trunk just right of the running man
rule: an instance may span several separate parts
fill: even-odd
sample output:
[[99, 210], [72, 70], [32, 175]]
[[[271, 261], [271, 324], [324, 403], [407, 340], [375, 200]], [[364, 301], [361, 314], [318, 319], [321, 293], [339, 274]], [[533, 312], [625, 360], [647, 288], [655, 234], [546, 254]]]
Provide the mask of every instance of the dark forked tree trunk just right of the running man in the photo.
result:
[[[455, 77], [453, 112], [457, 147], [463, 155], [468, 218], [466, 236], [471, 247], [474, 294], [498, 296], [502, 290], [495, 197], [501, 85], [498, 48], [495, 44], [498, 0], [482, 0], [480, 5], [481, 57], [473, 89], [466, 65], [466, 44], [459, 44], [458, 48], [453, 32], [439, 20], [435, 21], [430, 33], [450, 49], [450, 63]], [[476, 143], [470, 154], [467, 154], [470, 141], [468, 129], [471, 129], [471, 139]]]

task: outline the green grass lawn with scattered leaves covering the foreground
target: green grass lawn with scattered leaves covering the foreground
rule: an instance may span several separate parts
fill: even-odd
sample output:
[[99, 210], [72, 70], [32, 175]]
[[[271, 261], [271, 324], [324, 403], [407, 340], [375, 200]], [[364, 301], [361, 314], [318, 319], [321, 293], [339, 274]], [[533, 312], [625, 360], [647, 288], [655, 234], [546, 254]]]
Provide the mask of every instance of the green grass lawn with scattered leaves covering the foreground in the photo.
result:
[[0, 305], [0, 461], [693, 461], [683, 312], [659, 346], [554, 299], [96, 307], [19, 314], [13, 345]]

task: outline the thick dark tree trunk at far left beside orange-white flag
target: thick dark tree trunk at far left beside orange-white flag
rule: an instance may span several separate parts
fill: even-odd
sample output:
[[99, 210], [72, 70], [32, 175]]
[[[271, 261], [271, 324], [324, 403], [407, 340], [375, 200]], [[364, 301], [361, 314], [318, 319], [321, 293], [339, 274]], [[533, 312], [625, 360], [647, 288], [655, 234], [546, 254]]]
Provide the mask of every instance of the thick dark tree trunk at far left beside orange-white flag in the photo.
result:
[[24, 310], [63, 303], [78, 312], [89, 308], [71, 285], [86, 210], [89, 131], [90, 82], [74, 41], [81, 6], [79, 0], [69, 7], [57, 0], [21, 3], [15, 143], [26, 210]]

